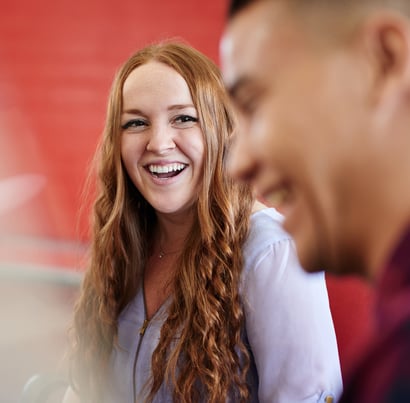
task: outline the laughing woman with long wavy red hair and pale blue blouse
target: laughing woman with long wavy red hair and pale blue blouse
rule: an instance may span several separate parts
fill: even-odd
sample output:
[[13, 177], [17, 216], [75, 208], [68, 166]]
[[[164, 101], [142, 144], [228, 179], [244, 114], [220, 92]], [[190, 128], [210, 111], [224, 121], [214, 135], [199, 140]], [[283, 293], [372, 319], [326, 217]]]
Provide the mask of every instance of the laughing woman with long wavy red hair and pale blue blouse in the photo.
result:
[[302, 271], [281, 216], [226, 175], [233, 131], [219, 71], [193, 48], [148, 46], [120, 69], [65, 402], [340, 392], [323, 275]]

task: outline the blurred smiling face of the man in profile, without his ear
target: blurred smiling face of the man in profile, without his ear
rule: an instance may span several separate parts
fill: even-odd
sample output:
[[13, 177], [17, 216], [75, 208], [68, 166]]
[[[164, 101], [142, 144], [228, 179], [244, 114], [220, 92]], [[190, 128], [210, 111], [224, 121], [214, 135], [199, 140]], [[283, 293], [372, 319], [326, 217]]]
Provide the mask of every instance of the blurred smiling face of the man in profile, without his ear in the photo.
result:
[[221, 42], [239, 116], [229, 169], [284, 214], [305, 269], [340, 271], [358, 247], [366, 80], [353, 46], [315, 41], [282, 3], [254, 2]]

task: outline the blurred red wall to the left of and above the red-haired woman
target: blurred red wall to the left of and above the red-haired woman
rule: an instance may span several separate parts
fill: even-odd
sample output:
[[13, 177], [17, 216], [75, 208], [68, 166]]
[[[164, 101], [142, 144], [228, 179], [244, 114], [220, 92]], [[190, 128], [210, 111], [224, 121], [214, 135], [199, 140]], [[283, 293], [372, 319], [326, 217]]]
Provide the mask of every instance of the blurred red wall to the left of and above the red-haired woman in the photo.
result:
[[[0, 188], [11, 199], [5, 211], [0, 201], [3, 261], [74, 264], [67, 254], [84, 241], [81, 192], [116, 69], [137, 48], [174, 37], [217, 62], [225, 7], [219, 0], [1, 0], [0, 183], [21, 182]], [[33, 253], [33, 242], [46, 253]], [[57, 245], [60, 256], [47, 256]]]

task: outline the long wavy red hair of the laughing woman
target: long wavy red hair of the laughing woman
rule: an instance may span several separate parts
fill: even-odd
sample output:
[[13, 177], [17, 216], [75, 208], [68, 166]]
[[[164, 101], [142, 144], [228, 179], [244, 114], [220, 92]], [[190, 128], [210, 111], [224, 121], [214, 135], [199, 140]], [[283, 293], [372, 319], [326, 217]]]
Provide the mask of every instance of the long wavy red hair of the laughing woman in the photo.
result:
[[[187, 82], [205, 140], [204, 176], [196, 218], [172, 282], [172, 303], [152, 357], [147, 401], [163, 382], [175, 402], [245, 401], [248, 354], [241, 339], [242, 246], [252, 196], [225, 172], [234, 119], [218, 68], [182, 43], [148, 46], [129, 58], [112, 85], [98, 152], [98, 194], [92, 245], [73, 325], [72, 374], [85, 401], [99, 401], [117, 335], [118, 317], [136, 294], [155, 212], [121, 162], [122, 88], [138, 66], [158, 61]], [[179, 335], [177, 340], [175, 335]]]

